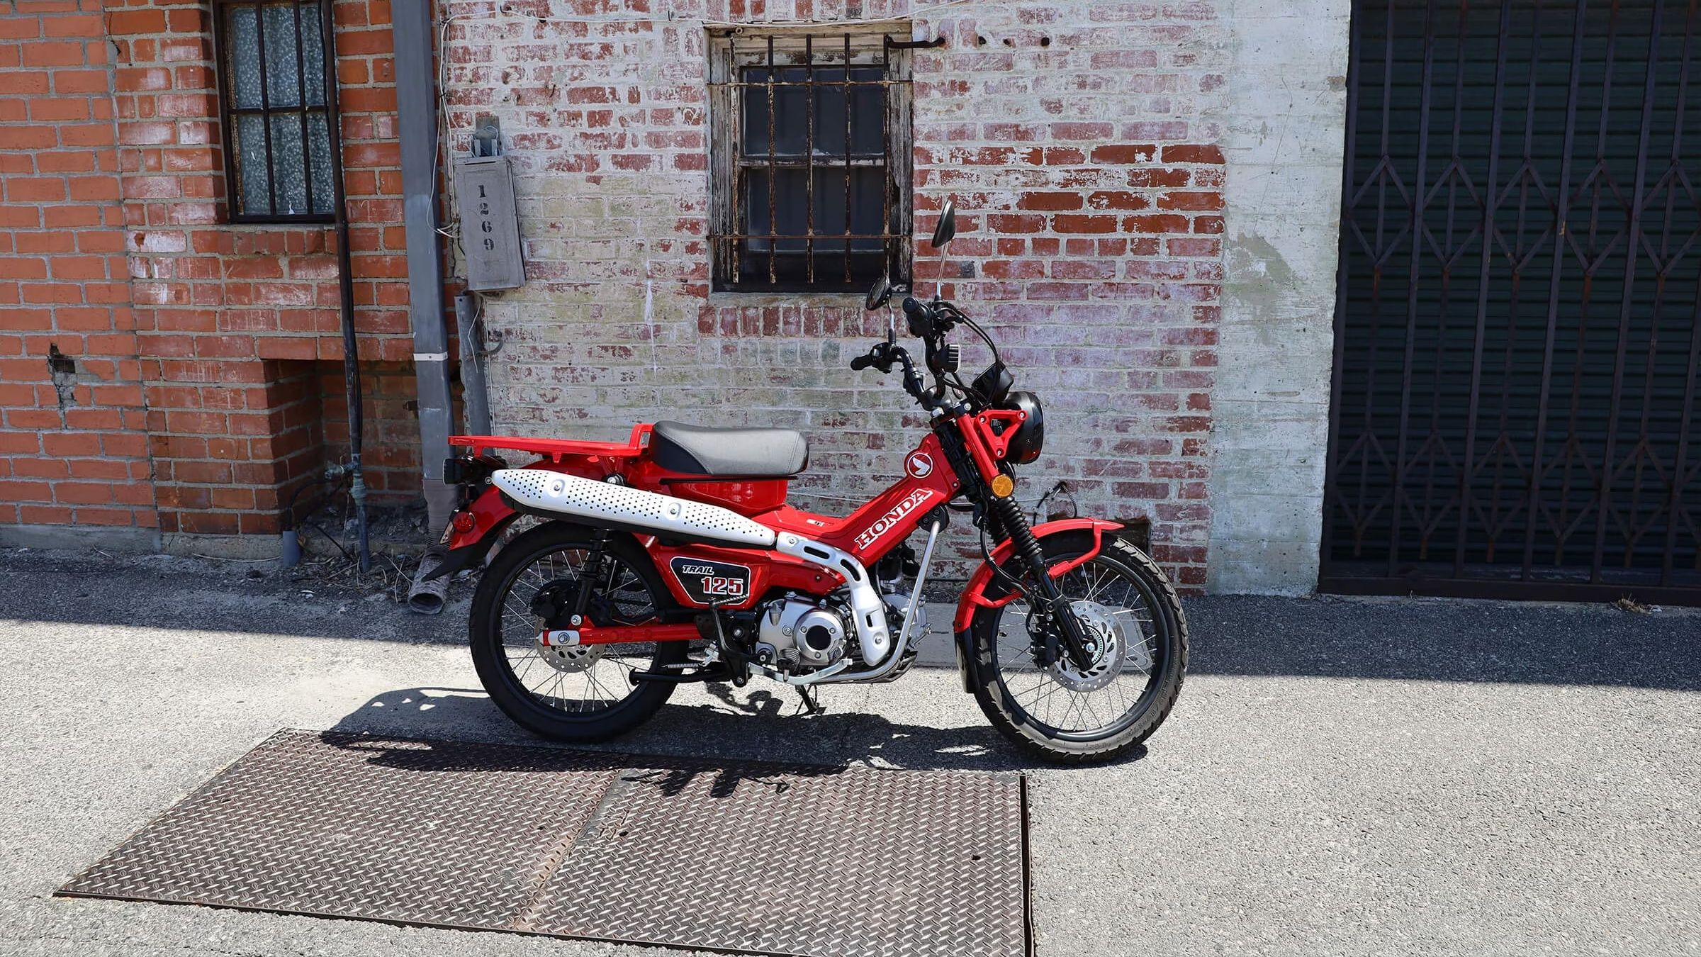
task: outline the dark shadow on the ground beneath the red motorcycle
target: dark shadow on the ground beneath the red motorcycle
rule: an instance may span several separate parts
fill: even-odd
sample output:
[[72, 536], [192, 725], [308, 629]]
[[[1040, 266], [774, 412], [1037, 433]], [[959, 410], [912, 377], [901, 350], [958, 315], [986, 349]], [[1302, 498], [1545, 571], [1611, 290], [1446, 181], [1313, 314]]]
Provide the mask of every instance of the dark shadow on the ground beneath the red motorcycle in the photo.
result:
[[[330, 731], [408, 741], [502, 744], [480, 756], [476, 766], [442, 749], [384, 749], [374, 741], [361, 744], [381, 763], [405, 763], [427, 770], [538, 770], [555, 766], [555, 758], [536, 748], [563, 748], [609, 754], [611, 766], [633, 766], [628, 756], [663, 758], [675, 770], [703, 770], [718, 761], [772, 761], [793, 765], [788, 773], [840, 773], [850, 768], [1021, 771], [1039, 766], [1019, 754], [983, 724], [936, 727], [891, 720], [881, 713], [828, 710], [799, 713], [798, 700], [765, 688], [735, 693], [726, 685], [708, 685], [706, 695], [668, 703], [643, 727], [602, 744], [556, 744], [514, 725], [483, 691], [466, 688], [400, 688], [373, 696], [338, 720]], [[830, 707], [830, 705], [828, 705]], [[975, 717], [980, 717], [978, 710]], [[616, 758], [617, 756], [617, 758]], [[1138, 761], [1145, 749], [1124, 759]], [[434, 765], [435, 761], [435, 765]]]

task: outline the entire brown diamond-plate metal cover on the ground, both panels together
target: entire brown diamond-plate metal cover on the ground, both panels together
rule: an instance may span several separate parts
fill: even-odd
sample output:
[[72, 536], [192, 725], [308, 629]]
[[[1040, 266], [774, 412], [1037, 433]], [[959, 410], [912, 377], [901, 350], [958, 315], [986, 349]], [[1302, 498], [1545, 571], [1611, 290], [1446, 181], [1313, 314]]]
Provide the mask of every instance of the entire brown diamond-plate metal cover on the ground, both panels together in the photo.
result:
[[1019, 775], [281, 731], [60, 889], [684, 948], [1026, 955]]

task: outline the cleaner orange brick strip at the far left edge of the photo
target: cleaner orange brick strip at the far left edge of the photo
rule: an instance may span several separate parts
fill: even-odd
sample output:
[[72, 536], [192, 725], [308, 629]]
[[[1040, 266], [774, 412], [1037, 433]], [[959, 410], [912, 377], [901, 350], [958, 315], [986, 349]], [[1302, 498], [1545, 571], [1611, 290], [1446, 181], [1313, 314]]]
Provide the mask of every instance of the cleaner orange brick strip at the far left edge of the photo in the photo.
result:
[[151, 530], [97, 0], [0, 9], [0, 524]]

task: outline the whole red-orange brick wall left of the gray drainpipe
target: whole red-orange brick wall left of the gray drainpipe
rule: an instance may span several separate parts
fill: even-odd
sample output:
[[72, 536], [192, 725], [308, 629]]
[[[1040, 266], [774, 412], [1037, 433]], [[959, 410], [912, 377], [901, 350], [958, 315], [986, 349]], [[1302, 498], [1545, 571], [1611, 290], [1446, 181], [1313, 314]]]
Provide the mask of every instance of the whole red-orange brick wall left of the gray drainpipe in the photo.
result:
[[[335, 232], [226, 221], [211, 15], [0, 14], [0, 242], [17, 247], [0, 303], [26, 307], [0, 318], [0, 523], [158, 526], [167, 547], [270, 535], [287, 489], [345, 455]], [[413, 497], [390, 3], [333, 15], [367, 482]]]

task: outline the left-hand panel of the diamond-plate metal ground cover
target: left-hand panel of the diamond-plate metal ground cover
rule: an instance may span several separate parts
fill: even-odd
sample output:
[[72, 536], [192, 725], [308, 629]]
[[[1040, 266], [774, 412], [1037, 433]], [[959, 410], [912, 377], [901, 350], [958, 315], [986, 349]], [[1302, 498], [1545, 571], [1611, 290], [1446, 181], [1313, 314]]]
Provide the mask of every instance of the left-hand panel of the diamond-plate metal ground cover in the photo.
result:
[[282, 731], [61, 892], [488, 926], [616, 776], [600, 754]]

